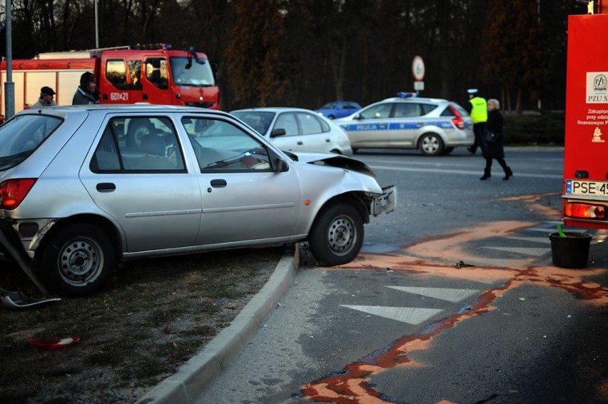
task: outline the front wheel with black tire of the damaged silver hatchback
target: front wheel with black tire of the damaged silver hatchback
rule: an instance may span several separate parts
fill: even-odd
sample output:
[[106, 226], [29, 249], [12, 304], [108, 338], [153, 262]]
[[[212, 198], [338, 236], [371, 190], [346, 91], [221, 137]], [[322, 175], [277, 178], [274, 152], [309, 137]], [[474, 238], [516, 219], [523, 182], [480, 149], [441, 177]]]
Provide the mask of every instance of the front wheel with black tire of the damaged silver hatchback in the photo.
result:
[[327, 266], [353, 261], [363, 245], [363, 218], [349, 203], [323, 206], [308, 233], [313, 256]]

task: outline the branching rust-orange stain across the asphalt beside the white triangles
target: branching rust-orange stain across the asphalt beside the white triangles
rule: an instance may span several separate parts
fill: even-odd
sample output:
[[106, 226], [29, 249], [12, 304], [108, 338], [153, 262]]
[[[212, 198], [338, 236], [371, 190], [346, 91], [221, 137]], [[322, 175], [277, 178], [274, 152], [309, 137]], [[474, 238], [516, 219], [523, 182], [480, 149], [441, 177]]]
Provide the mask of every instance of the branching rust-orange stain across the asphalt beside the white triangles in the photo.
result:
[[[507, 291], [517, 288], [523, 283], [534, 283], [537, 285], [553, 288], [562, 288], [569, 293], [574, 293], [578, 298], [584, 299], [596, 305], [608, 305], [608, 288], [603, 288], [597, 283], [584, 281], [585, 276], [594, 276], [605, 273], [606, 269], [590, 270], [567, 270], [556, 267], [522, 267], [522, 261], [512, 261], [513, 265], [503, 267], [475, 266], [460, 267], [450, 264], [437, 264], [427, 261], [429, 258], [438, 258], [441, 261], [453, 262], [473, 261], [478, 257], [470, 256], [459, 247], [463, 241], [474, 241], [487, 236], [505, 236], [522, 228], [527, 228], [535, 223], [518, 221], [492, 222], [485, 226], [474, 229], [465, 229], [459, 233], [444, 238], [438, 238], [424, 243], [418, 243], [405, 248], [412, 256], [400, 255], [374, 255], [362, 254], [356, 261], [345, 266], [345, 268], [368, 268], [378, 270], [407, 271], [411, 273], [427, 273], [432, 276], [445, 276], [452, 278], [467, 278], [480, 281], [500, 282], [502, 286], [483, 293], [471, 310], [465, 313], [457, 313], [445, 318], [435, 325], [431, 330], [418, 335], [405, 335], [388, 350], [383, 351], [374, 358], [373, 363], [363, 361], [346, 365], [340, 375], [331, 376], [308, 383], [303, 387], [305, 398], [321, 403], [392, 403], [382, 397], [382, 393], [374, 390], [368, 385], [370, 376], [397, 366], [417, 366], [418, 364], [408, 358], [408, 354], [417, 350], [425, 350], [429, 347], [433, 338], [444, 330], [454, 328], [456, 325], [468, 318], [495, 310], [492, 304], [503, 296]], [[325, 268], [330, 269], [330, 268]], [[437, 404], [447, 404], [444, 400]]]

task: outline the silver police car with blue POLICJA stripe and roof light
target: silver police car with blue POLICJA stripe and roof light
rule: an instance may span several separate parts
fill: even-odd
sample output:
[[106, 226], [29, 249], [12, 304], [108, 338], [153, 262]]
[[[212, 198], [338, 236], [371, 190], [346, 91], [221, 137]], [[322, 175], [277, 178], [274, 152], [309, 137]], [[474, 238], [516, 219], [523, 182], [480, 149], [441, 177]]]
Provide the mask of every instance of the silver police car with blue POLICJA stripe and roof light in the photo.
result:
[[353, 151], [409, 148], [439, 156], [475, 141], [473, 123], [465, 108], [412, 93], [378, 101], [334, 123], [348, 133]]

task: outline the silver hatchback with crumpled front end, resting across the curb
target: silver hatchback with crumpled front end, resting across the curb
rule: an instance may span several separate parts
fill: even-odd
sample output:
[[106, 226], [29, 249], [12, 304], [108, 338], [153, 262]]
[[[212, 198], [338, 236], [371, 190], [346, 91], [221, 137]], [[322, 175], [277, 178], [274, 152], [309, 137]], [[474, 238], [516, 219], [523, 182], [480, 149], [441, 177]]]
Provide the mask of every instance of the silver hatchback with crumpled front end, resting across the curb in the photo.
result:
[[121, 260], [296, 241], [348, 263], [396, 198], [360, 161], [285, 153], [221, 111], [69, 106], [0, 126], [0, 255], [44, 293], [95, 293]]

